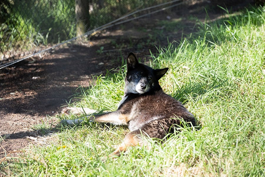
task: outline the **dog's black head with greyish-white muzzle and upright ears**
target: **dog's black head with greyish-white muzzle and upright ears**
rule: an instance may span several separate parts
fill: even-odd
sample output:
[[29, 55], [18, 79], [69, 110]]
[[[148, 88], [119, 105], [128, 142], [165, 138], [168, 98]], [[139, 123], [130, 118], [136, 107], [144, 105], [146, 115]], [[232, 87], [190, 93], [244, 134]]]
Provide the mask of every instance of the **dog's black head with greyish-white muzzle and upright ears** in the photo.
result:
[[154, 89], [161, 89], [158, 80], [165, 75], [168, 68], [153, 69], [138, 62], [133, 53], [127, 58], [125, 94], [144, 94]]

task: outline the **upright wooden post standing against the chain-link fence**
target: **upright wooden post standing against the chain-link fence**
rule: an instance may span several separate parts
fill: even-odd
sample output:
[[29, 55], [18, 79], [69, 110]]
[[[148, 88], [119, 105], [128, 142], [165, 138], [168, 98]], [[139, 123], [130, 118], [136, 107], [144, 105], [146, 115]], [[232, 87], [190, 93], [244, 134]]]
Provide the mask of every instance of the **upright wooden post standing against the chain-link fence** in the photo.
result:
[[80, 36], [88, 31], [89, 3], [88, 0], [75, 0], [76, 35]]

